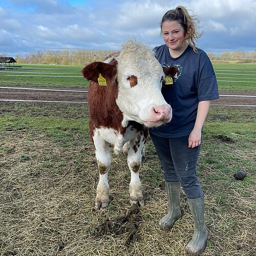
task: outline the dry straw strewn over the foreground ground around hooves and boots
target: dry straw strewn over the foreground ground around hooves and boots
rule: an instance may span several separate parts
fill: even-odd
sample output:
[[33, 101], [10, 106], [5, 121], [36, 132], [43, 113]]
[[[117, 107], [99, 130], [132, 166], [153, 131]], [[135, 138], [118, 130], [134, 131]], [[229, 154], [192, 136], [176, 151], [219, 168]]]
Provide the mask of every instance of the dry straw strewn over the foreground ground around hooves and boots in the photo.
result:
[[[158, 226], [167, 211], [167, 198], [151, 141], [140, 172], [145, 206], [131, 214], [125, 156], [113, 155], [111, 203], [96, 210], [93, 146], [87, 134], [74, 131], [69, 136], [72, 140], [63, 142], [33, 130], [1, 132], [0, 255], [186, 255], [193, 220], [184, 193], [183, 217], [171, 230]], [[241, 158], [250, 157], [249, 152], [236, 150]], [[207, 155], [202, 148], [202, 158]], [[201, 160], [199, 168], [210, 234], [202, 255], [256, 255], [255, 201], [244, 194], [253, 195], [255, 187], [225, 179], [226, 174], [223, 180], [209, 181], [214, 170]], [[238, 189], [241, 182], [244, 186]], [[121, 219], [127, 216], [133, 218]], [[109, 230], [99, 232], [106, 221], [114, 222], [115, 228], [111, 224]]]

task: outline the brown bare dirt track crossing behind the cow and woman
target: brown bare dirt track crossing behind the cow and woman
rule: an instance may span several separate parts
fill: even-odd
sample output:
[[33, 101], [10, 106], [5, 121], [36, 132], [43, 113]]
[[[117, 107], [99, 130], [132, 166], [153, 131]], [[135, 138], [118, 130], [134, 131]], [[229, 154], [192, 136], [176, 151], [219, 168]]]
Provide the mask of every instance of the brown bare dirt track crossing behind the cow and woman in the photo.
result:
[[[45, 88], [44, 88], [45, 89]], [[74, 90], [74, 89], [66, 89]], [[220, 93], [225, 94], [225, 93]], [[227, 93], [226, 93], [227, 94]], [[60, 91], [40, 91], [40, 90], [21, 90], [21, 89], [2, 89], [0, 88], [0, 99], [9, 100], [48, 100], [48, 101], [75, 101], [87, 102], [86, 92], [60, 92]], [[255, 97], [225, 97], [212, 101], [215, 105], [256, 105]]]

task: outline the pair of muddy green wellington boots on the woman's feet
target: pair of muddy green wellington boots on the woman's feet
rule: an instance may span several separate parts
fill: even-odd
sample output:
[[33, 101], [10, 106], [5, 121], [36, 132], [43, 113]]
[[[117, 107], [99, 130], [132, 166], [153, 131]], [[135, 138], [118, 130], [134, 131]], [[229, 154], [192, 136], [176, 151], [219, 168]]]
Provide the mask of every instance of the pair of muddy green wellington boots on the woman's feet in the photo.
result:
[[[172, 228], [174, 223], [181, 218], [180, 211], [180, 183], [166, 182], [166, 193], [168, 198], [168, 214], [159, 222], [162, 229]], [[186, 252], [193, 255], [202, 253], [208, 239], [208, 232], [204, 218], [204, 197], [187, 199], [191, 214], [194, 219], [194, 235], [186, 246]]]

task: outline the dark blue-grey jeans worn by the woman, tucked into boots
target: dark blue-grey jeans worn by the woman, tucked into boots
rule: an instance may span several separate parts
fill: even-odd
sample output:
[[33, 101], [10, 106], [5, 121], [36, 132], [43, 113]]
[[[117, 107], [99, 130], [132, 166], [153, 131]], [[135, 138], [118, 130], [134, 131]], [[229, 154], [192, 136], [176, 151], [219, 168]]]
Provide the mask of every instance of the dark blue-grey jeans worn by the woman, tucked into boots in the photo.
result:
[[197, 161], [200, 146], [188, 147], [188, 136], [164, 138], [150, 132], [164, 170], [165, 182], [180, 182], [189, 199], [203, 197], [197, 177]]

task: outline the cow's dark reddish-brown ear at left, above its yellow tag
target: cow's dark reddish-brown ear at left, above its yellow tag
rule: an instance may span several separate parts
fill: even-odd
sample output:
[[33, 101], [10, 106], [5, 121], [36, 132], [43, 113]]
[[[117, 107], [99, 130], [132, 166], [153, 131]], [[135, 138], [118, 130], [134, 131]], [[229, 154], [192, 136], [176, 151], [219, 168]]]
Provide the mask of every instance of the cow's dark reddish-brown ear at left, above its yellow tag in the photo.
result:
[[116, 67], [101, 61], [95, 61], [82, 69], [82, 75], [87, 80], [97, 82], [99, 74], [105, 79], [113, 79], [116, 76]]

